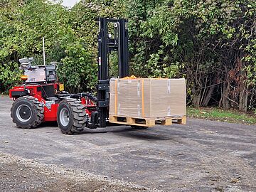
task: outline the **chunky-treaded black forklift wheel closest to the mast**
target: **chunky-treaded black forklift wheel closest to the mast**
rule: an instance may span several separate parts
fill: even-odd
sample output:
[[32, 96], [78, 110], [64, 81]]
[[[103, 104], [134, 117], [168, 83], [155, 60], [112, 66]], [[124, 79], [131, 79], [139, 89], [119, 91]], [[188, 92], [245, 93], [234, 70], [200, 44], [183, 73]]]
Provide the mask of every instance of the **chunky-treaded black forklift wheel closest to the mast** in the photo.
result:
[[[63, 124], [61, 118], [63, 117], [63, 110], [68, 112], [68, 124]], [[60, 117], [62, 115], [62, 117]], [[85, 113], [85, 105], [82, 105], [79, 100], [63, 100], [60, 102], [58, 106], [57, 112], [57, 122], [60, 131], [63, 134], [75, 134], [78, 132], [82, 132], [85, 128], [85, 124], [87, 121], [86, 113]]]

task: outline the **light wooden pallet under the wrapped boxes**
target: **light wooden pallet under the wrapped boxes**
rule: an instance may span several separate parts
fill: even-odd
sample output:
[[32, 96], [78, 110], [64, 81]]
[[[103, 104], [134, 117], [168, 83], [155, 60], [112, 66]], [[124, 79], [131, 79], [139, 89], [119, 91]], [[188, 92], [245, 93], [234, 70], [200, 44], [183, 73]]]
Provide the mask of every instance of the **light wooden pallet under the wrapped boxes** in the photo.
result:
[[116, 124], [129, 124], [143, 127], [154, 127], [156, 124], [171, 125], [173, 123], [186, 124], [184, 117], [161, 117], [161, 118], [142, 118], [142, 117], [125, 117], [110, 114], [110, 122]]

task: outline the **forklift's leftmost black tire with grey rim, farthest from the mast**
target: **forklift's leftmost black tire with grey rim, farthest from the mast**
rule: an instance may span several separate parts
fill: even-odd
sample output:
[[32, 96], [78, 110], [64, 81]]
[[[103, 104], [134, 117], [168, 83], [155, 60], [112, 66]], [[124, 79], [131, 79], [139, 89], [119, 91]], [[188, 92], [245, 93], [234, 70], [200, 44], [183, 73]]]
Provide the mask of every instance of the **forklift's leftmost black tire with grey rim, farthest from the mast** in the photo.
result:
[[[22, 113], [21, 107], [23, 107], [24, 114]], [[28, 118], [26, 117], [25, 110], [28, 112]], [[11, 107], [11, 118], [17, 127], [30, 129], [37, 127], [41, 122], [43, 122], [43, 112], [43, 104], [39, 102], [37, 98], [32, 96], [23, 96], [14, 101]]]

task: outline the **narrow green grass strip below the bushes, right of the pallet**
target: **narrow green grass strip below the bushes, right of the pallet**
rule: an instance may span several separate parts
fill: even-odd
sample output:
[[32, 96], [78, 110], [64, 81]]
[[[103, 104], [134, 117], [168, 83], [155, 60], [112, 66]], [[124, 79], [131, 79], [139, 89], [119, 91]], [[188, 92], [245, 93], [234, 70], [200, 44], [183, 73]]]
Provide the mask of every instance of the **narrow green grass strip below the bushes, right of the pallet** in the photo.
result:
[[255, 124], [256, 114], [247, 114], [237, 110], [221, 110], [218, 108], [187, 108], [188, 117], [198, 119], [210, 119], [220, 122], [232, 122], [240, 124]]

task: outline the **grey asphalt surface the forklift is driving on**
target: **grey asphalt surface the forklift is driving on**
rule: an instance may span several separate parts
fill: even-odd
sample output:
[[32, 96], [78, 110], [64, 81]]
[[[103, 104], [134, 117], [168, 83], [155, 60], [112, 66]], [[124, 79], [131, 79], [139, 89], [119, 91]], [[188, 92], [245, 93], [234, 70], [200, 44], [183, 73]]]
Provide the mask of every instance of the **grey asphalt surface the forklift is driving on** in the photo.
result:
[[16, 128], [11, 104], [0, 97], [2, 154], [163, 191], [256, 191], [255, 126], [188, 119], [186, 125], [65, 135], [56, 124]]

